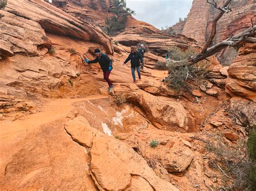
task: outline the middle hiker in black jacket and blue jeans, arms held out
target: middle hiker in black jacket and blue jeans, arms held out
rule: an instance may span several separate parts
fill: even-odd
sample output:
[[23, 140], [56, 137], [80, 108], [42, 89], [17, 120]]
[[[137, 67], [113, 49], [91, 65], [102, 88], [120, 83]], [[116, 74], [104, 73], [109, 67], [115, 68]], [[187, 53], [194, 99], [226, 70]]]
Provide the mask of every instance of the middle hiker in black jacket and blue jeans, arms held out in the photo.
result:
[[142, 55], [140, 55], [136, 51], [136, 47], [132, 46], [131, 47], [131, 54], [129, 54], [128, 58], [124, 61], [124, 65], [131, 60], [131, 70], [132, 70], [132, 78], [133, 78], [133, 83], [136, 82], [136, 76], [135, 76], [135, 69], [137, 69], [139, 80], [142, 79], [140, 75], [140, 62], [142, 63]]

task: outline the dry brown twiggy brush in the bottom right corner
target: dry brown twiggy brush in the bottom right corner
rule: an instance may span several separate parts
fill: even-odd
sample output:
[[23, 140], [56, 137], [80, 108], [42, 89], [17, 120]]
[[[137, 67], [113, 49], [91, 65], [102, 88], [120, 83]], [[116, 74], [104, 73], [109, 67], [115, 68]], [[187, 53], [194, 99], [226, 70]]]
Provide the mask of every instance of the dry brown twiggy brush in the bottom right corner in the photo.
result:
[[253, 190], [256, 186], [256, 131], [252, 131], [246, 143], [245, 139], [239, 139], [230, 146], [221, 142], [217, 136], [217, 142], [207, 142], [206, 150], [216, 155], [215, 162], [221, 169], [232, 176], [230, 190]]

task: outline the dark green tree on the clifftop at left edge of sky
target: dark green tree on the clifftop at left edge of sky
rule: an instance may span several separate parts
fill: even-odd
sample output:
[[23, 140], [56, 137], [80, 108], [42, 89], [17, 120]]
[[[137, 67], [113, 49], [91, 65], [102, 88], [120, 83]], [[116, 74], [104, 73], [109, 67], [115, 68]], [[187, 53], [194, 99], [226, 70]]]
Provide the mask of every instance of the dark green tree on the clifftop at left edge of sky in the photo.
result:
[[135, 11], [126, 7], [125, 0], [114, 0], [109, 12], [114, 13], [116, 16], [106, 19], [103, 31], [107, 34], [113, 34], [124, 29], [127, 17], [135, 14]]

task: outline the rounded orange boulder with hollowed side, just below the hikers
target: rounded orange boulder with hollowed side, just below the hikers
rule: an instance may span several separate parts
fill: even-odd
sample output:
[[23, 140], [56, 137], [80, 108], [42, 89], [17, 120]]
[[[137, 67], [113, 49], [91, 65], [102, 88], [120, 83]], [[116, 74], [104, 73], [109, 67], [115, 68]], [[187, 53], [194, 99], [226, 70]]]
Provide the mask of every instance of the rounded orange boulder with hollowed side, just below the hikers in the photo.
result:
[[160, 124], [170, 130], [176, 127], [186, 129], [186, 110], [179, 102], [166, 97], [153, 96], [129, 84], [116, 87], [114, 94], [124, 95], [127, 101], [139, 105], [146, 116], [157, 126]]

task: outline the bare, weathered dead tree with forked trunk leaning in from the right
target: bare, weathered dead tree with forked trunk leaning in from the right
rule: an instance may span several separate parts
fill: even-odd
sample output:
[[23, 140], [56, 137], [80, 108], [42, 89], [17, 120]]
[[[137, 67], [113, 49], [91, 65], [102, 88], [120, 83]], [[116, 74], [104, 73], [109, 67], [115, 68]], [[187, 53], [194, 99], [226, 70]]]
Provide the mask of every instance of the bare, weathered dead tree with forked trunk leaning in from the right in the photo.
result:
[[243, 32], [237, 34], [236, 36], [232, 35], [230, 38], [227, 38], [226, 40], [221, 41], [217, 45], [209, 47], [212, 44], [212, 40], [215, 37], [218, 20], [224, 15], [224, 13], [228, 13], [228, 12], [232, 11], [230, 9], [230, 4], [231, 4], [232, 0], [227, 0], [224, 3], [223, 8], [218, 7], [217, 3], [215, 3], [214, 0], [212, 2], [210, 2], [210, 1], [207, 0], [207, 3], [210, 3], [211, 5], [213, 5], [214, 8], [220, 10], [220, 12], [217, 15], [217, 17], [215, 17], [213, 19], [211, 36], [207, 40], [202, 51], [199, 54], [191, 56], [188, 59], [189, 66], [194, 65], [195, 63], [198, 63], [202, 60], [205, 60], [209, 56], [211, 56], [215, 53], [218, 53], [219, 51], [221, 51], [221, 49], [224, 49], [227, 46], [232, 46], [232, 47], [236, 48], [236, 47], [240, 47], [246, 43], [256, 43], [256, 38], [255, 38], [256, 37], [256, 26], [253, 26], [253, 22], [252, 22], [252, 27], [250, 29], [243, 31]]

